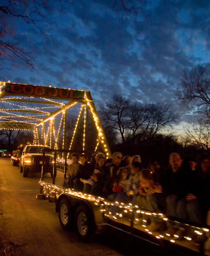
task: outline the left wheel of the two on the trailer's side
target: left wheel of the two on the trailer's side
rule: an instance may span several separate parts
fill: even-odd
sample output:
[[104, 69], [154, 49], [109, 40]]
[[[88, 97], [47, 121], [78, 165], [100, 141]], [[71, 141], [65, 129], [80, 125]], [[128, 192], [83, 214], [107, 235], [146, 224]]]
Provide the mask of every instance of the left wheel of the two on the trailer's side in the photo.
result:
[[59, 202], [58, 212], [61, 227], [66, 230], [73, 229], [73, 214], [68, 199], [63, 198], [61, 202]]

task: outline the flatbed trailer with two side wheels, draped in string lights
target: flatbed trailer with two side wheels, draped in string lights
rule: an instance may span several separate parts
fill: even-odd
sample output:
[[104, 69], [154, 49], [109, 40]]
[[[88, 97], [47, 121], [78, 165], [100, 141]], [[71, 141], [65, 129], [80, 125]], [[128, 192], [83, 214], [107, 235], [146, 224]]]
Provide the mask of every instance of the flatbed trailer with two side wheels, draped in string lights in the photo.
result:
[[[65, 177], [66, 170], [64, 170]], [[115, 228], [117, 232], [124, 232], [141, 239], [164, 252], [175, 252], [176, 255], [199, 255], [200, 253], [210, 255], [208, 226], [183, 223], [160, 212], [145, 211], [133, 204], [109, 202], [100, 196], [65, 188], [61, 182], [60, 185], [55, 184], [56, 179], [52, 182], [41, 179], [40, 194], [37, 194], [36, 198], [55, 202], [61, 227], [65, 230], [76, 229], [82, 241], [88, 241], [93, 234], [104, 232], [107, 228]], [[180, 240], [173, 234], [165, 234], [164, 230], [153, 232], [149, 230], [149, 223], [154, 218], [161, 221], [165, 227], [168, 223], [176, 227], [184, 226], [188, 234]]]

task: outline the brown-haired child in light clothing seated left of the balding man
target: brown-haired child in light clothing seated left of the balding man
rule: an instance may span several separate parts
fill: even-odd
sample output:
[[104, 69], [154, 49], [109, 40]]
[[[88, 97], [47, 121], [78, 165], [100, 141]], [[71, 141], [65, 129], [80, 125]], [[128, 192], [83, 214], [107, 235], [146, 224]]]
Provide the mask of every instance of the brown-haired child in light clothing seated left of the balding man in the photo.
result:
[[[151, 212], [163, 212], [165, 209], [165, 196], [162, 193], [162, 186], [156, 180], [156, 173], [149, 169], [140, 172], [139, 195], [136, 204], [141, 208]], [[151, 217], [149, 230], [158, 231], [162, 228], [160, 218]]]

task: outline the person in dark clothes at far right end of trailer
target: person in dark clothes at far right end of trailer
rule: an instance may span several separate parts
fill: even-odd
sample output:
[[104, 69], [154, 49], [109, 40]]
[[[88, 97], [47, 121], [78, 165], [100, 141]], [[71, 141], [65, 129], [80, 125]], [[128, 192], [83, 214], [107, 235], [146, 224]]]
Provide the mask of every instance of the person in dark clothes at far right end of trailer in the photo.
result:
[[[200, 201], [202, 222], [206, 224], [207, 212], [210, 209], [210, 157], [202, 155], [198, 157], [198, 166], [195, 172], [195, 187]], [[188, 200], [193, 200], [195, 195], [188, 195]]]

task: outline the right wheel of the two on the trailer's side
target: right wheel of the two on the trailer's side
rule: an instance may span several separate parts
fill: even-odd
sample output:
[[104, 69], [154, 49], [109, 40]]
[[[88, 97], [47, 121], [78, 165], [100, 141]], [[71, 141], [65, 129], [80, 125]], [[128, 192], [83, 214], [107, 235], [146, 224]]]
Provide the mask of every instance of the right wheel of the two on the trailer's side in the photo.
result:
[[75, 223], [77, 225], [77, 233], [80, 240], [88, 241], [93, 234], [93, 221], [88, 209], [84, 206], [79, 206], [75, 213]]

